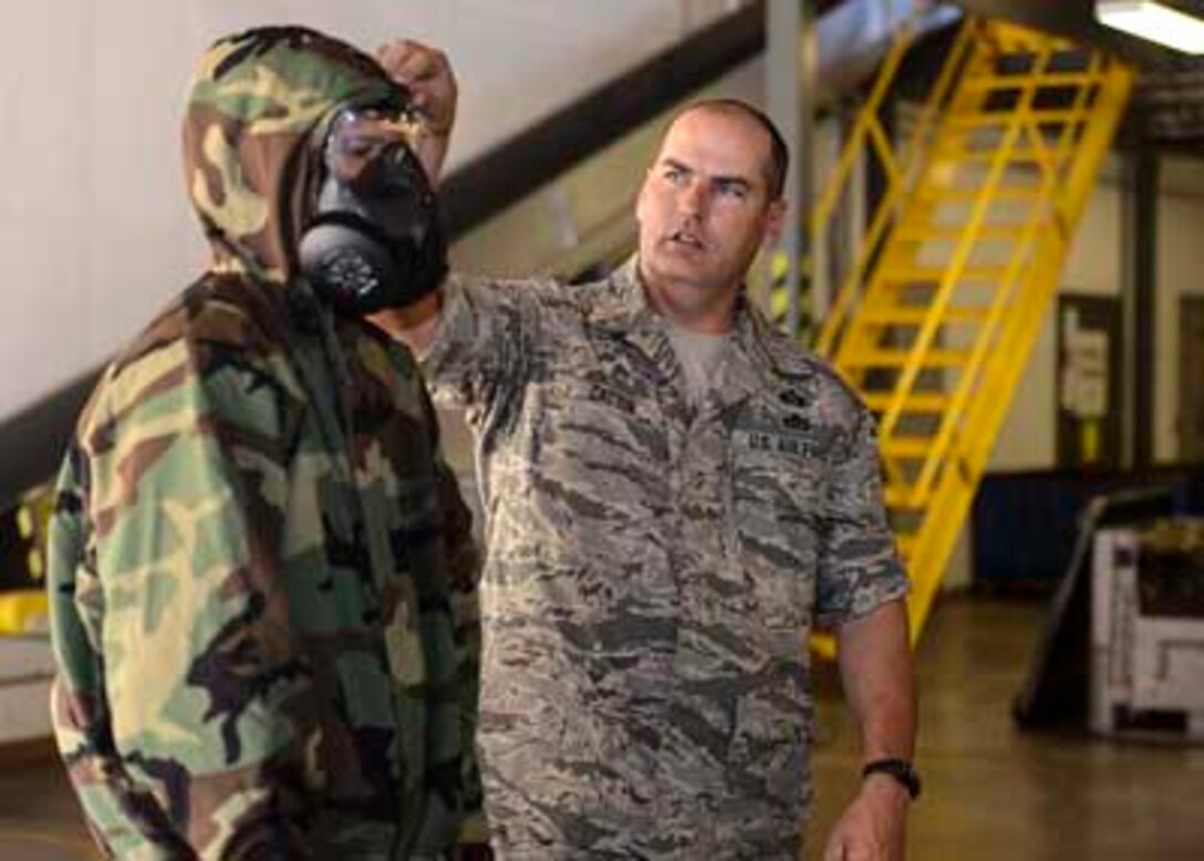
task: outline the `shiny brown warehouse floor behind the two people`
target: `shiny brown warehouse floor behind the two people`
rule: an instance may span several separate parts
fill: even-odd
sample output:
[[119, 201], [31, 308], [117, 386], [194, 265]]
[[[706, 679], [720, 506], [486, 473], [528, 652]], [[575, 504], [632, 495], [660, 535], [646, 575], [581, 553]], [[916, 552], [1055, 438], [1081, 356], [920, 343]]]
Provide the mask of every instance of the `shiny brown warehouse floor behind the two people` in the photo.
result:
[[[1040, 605], [943, 602], [919, 653], [925, 794], [911, 861], [1204, 859], [1204, 748], [1019, 733], [1010, 703]], [[856, 788], [855, 731], [825, 696], [810, 857]], [[95, 857], [48, 749], [0, 754], [0, 859]]]

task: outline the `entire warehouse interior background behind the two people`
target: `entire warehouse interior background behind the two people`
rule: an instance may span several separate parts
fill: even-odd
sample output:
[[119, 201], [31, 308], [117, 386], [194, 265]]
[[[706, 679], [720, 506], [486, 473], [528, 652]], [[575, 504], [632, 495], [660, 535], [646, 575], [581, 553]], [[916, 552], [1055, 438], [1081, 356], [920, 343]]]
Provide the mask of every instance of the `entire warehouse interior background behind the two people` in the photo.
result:
[[[5, 6], [0, 856], [94, 857], [49, 741], [41, 524], [106, 358], [205, 265], [179, 167], [191, 63], [301, 23], [449, 54], [464, 271], [607, 271], [666, 118], [762, 105], [793, 220], [750, 290], [879, 414], [920, 595], [909, 857], [1200, 857], [1204, 57], [1106, 26], [1109, 5]], [[1204, 2], [1163, 6], [1204, 29]], [[442, 419], [471, 491], [462, 421]], [[811, 648], [814, 854], [857, 753], [831, 644]]]

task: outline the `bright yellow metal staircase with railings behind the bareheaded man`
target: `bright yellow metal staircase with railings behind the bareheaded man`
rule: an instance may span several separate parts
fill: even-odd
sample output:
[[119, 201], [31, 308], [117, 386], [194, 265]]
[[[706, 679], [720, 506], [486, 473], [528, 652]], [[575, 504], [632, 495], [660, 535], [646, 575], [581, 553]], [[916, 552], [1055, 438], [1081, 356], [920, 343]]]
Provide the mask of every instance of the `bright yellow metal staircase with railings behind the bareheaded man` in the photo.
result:
[[[1075, 226], [1125, 110], [1132, 72], [1047, 34], [962, 23], [895, 152], [878, 120], [904, 31], [811, 218], [821, 248], [866, 152], [886, 189], [825, 318], [818, 349], [874, 411], [886, 502], [923, 626]], [[815, 643], [833, 653], [831, 639]]]

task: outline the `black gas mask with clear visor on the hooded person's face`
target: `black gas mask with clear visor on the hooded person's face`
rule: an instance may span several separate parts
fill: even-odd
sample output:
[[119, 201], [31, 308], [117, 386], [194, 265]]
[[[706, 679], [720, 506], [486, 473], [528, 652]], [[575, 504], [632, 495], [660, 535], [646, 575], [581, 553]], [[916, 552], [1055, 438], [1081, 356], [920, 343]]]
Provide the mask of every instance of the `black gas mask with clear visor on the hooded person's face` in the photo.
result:
[[447, 275], [435, 193], [405, 114], [344, 108], [324, 146], [325, 178], [297, 249], [301, 271], [338, 313], [412, 305]]

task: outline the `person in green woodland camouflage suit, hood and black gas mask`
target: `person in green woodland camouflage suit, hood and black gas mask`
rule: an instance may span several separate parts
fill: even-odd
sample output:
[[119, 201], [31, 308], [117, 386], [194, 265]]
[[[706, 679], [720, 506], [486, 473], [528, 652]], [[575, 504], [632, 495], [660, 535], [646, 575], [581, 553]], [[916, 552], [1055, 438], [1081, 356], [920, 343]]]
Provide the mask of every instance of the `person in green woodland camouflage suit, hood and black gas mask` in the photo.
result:
[[443, 857], [479, 804], [470, 515], [362, 319], [443, 277], [429, 135], [309, 30], [200, 61], [212, 264], [104, 372], [51, 524], [54, 730], [107, 855]]

